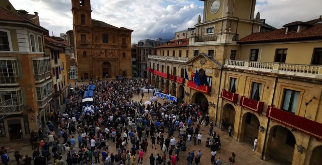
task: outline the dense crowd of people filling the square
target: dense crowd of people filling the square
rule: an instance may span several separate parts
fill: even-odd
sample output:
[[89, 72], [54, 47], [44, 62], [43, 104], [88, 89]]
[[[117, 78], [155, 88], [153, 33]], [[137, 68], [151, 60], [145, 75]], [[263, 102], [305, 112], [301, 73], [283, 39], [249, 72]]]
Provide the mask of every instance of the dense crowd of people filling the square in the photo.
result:
[[[216, 157], [221, 148], [220, 134], [213, 132], [209, 115], [202, 114], [203, 106], [166, 100], [145, 105], [142, 99], [132, 100], [140, 87], [153, 87], [145, 81], [91, 83], [96, 85], [95, 113], [83, 114], [81, 99], [88, 85], [76, 86], [66, 99], [65, 111], [51, 111], [45, 128], [31, 133], [32, 157], [15, 152], [17, 164], [30, 165], [33, 161], [45, 165], [54, 159], [57, 165], [175, 165], [181, 161], [199, 165], [201, 150], [187, 148], [205, 145], [211, 150], [211, 163], [221, 165], [220, 157]], [[209, 137], [202, 144], [204, 128], [209, 128]], [[111, 145], [116, 149], [109, 148]], [[148, 149], [154, 153], [149, 162], [143, 162]], [[63, 154], [67, 159], [62, 159]]]

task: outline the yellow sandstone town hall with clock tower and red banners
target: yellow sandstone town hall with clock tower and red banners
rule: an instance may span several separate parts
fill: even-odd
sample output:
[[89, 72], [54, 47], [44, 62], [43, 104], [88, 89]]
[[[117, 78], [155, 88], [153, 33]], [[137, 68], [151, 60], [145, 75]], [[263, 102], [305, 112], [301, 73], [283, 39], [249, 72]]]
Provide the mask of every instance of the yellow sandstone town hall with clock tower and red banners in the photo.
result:
[[[263, 160], [319, 165], [321, 17], [275, 30], [259, 14], [254, 18], [256, 0], [202, 1], [203, 18], [189, 37], [187, 59], [157, 48], [158, 55], [148, 58], [148, 81], [166, 86], [179, 100], [199, 103], [216, 126], [232, 126], [237, 141], [253, 144], [257, 136], [255, 153]], [[189, 69], [206, 75], [201, 85]]]

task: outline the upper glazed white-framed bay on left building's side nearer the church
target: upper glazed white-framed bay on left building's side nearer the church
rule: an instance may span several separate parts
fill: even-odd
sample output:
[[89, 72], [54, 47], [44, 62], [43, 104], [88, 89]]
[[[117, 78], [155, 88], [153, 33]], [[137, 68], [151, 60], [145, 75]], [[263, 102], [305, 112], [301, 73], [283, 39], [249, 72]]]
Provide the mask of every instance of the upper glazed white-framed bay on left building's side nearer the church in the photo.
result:
[[43, 81], [50, 77], [50, 60], [49, 58], [34, 58], [34, 77], [36, 81]]

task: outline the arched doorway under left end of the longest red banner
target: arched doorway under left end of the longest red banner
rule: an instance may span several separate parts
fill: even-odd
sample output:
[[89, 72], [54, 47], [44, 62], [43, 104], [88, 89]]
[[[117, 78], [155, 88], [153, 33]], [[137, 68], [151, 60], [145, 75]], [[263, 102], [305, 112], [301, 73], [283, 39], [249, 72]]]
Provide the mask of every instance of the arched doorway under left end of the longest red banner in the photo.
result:
[[282, 165], [292, 165], [295, 144], [290, 130], [280, 125], [273, 126], [269, 131], [266, 155]]

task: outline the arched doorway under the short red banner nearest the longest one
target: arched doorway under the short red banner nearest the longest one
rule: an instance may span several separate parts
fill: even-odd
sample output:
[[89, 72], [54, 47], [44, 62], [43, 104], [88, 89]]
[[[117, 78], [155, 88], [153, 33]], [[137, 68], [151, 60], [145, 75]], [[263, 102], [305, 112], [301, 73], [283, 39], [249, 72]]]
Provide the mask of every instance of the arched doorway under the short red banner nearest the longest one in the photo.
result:
[[254, 144], [254, 137], [258, 137], [260, 121], [253, 113], [245, 113], [242, 116], [241, 137], [249, 144]]

